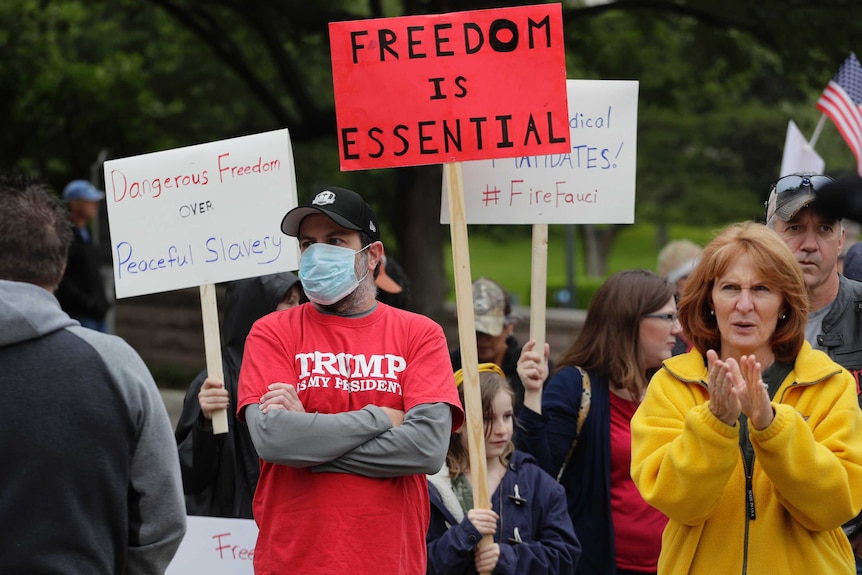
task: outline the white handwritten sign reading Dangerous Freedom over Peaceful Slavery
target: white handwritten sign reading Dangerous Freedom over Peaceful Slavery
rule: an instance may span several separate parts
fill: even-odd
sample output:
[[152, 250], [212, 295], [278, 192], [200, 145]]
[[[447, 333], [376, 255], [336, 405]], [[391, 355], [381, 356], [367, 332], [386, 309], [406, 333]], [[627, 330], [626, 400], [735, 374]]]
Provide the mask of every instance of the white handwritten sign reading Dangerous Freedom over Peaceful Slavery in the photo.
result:
[[299, 266], [287, 130], [105, 162], [105, 192], [118, 298]]

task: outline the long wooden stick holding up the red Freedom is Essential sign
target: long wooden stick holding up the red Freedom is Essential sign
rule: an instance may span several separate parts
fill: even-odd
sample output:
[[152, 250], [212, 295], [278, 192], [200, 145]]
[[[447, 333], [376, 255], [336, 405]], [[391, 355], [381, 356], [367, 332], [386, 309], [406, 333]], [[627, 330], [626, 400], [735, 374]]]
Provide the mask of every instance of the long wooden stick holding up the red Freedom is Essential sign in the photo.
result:
[[[464, 180], [461, 163], [443, 164], [443, 177], [449, 184], [449, 213], [452, 236], [452, 267], [455, 272], [455, 300], [458, 309], [458, 338], [461, 344], [461, 369], [464, 374], [464, 411], [467, 415], [467, 447], [470, 454], [470, 481], [473, 505], [491, 509], [485, 459], [485, 425], [482, 421], [482, 393], [479, 388], [479, 352], [476, 350], [476, 323], [473, 315], [473, 280], [470, 274], [470, 247], [464, 212]], [[480, 546], [493, 543], [486, 535]]]

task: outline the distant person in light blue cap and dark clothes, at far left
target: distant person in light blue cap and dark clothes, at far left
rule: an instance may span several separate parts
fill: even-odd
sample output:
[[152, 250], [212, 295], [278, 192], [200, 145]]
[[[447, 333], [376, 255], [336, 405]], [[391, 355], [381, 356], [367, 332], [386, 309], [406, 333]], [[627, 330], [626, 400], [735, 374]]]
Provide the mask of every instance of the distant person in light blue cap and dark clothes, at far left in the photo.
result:
[[108, 331], [106, 316], [111, 304], [99, 265], [99, 248], [93, 243], [90, 225], [99, 216], [105, 192], [87, 180], [72, 180], [63, 189], [63, 200], [72, 220], [72, 243], [66, 271], [57, 287], [57, 300], [63, 311], [81, 325]]

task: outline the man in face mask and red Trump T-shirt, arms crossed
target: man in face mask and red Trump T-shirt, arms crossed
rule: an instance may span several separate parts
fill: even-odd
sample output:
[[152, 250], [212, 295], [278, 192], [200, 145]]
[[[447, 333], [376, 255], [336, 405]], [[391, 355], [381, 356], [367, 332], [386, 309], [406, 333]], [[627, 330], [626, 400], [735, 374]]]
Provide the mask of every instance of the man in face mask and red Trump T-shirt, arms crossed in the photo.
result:
[[424, 573], [425, 474], [464, 417], [443, 330], [375, 299], [383, 244], [359, 194], [323, 188], [281, 228], [299, 240], [310, 303], [265, 316], [246, 340], [238, 416], [262, 460], [255, 573]]

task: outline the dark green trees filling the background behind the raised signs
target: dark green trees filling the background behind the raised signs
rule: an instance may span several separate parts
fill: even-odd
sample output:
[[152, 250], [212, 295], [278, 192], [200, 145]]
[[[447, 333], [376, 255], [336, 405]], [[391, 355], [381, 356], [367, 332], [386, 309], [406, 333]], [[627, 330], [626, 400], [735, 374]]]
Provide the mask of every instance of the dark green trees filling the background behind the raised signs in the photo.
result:
[[[100, 157], [287, 127], [300, 196], [324, 181], [367, 194], [416, 308], [434, 315], [446, 292], [440, 167], [338, 171], [328, 23], [517, 4], [6, 0], [0, 157], [59, 188]], [[563, 11], [570, 78], [640, 81], [636, 214], [660, 223], [757, 217], [787, 120], [813, 130], [817, 95], [862, 37], [858, 0], [568, 1]], [[852, 169], [830, 127], [818, 148], [830, 171]], [[601, 275], [617, 229], [584, 229], [579, 244]]]

